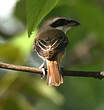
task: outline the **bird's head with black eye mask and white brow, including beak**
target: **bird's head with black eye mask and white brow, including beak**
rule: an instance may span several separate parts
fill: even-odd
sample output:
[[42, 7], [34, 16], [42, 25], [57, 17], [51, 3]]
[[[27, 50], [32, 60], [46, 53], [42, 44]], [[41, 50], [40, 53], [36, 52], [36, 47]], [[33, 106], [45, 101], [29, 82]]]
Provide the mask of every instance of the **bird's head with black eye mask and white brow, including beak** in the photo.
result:
[[54, 18], [50, 18], [48, 19], [44, 26], [50, 26], [52, 28], [61, 30], [63, 32], [67, 32], [69, 29], [71, 29], [74, 26], [78, 26], [80, 25], [79, 22], [70, 19], [70, 18], [66, 18], [66, 17], [54, 17]]

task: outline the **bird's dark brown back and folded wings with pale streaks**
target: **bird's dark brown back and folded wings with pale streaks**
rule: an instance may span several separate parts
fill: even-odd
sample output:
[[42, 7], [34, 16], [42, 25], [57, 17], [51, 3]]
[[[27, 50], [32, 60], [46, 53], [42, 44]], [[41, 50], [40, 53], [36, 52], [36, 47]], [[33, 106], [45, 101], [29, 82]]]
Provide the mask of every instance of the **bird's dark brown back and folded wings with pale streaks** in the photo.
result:
[[50, 31], [48, 33], [43, 33], [41, 37], [35, 39], [34, 48], [40, 56], [53, 60], [58, 52], [65, 50], [68, 38], [61, 31], [57, 31], [57, 33]]

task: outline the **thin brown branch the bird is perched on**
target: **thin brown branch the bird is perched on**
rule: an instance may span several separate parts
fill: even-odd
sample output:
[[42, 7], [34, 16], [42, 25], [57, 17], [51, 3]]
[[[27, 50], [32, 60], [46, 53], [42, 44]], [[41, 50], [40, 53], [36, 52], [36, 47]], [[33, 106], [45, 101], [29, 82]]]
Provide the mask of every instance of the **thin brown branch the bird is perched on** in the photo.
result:
[[[17, 66], [17, 65], [0, 62], [0, 68], [23, 71], [23, 72], [31, 72], [31, 73], [42, 75], [42, 70], [39, 68], [34, 68], [34, 67]], [[104, 78], [104, 72], [69, 71], [69, 70], [62, 69], [62, 74], [63, 76], [92, 77], [92, 78], [98, 78], [98, 79]]]

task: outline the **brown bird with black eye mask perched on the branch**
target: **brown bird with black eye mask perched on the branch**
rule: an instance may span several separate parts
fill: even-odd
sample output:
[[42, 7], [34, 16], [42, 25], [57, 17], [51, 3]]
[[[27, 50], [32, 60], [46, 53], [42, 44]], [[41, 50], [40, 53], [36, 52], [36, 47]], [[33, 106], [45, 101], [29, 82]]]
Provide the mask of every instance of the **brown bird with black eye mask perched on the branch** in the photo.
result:
[[[35, 40], [34, 50], [46, 62], [47, 85], [60, 86], [63, 76], [60, 71], [60, 61], [65, 49], [70, 44], [66, 32], [80, 23], [71, 18], [57, 16], [51, 17], [39, 29]], [[41, 68], [45, 68], [45, 63]], [[43, 74], [46, 74], [43, 71]]]

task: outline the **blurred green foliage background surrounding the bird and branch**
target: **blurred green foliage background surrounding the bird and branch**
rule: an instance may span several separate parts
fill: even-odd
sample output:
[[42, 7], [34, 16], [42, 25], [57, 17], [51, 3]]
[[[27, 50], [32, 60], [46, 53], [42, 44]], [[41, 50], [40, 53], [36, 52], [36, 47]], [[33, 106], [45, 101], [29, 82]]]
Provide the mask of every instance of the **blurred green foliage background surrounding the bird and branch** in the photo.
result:
[[[0, 61], [39, 67], [42, 60], [33, 50], [34, 36], [40, 22], [52, 16], [71, 17], [81, 24], [67, 33], [70, 44], [62, 65], [69, 70], [103, 71], [103, 0], [15, 1], [12, 12], [0, 16]], [[48, 87], [35, 74], [0, 69], [0, 110], [103, 110], [103, 83], [65, 77], [60, 87]]]

